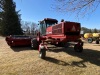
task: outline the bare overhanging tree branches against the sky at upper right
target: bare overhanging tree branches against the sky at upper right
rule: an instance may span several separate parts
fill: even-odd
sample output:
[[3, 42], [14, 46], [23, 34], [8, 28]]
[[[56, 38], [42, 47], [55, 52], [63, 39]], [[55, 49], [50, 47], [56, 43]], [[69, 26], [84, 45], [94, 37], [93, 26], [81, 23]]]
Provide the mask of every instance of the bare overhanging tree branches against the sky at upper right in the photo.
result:
[[55, 0], [53, 8], [60, 12], [85, 16], [94, 12], [99, 4], [100, 0]]

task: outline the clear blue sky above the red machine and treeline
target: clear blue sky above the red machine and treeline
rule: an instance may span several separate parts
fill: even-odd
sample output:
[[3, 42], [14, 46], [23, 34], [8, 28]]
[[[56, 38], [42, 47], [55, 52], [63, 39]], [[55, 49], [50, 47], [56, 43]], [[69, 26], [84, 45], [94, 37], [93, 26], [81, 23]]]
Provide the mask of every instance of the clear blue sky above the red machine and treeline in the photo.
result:
[[61, 13], [52, 9], [54, 0], [14, 0], [16, 10], [21, 10], [21, 19], [38, 23], [44, 18], [55, 18], [58, 21], [74, 21], [81, 23], [82, 27], [100, 29], [100, 5], [95, 12], [84, 18], [76, 18], [74, 15], [69, 16], [67, 13]]

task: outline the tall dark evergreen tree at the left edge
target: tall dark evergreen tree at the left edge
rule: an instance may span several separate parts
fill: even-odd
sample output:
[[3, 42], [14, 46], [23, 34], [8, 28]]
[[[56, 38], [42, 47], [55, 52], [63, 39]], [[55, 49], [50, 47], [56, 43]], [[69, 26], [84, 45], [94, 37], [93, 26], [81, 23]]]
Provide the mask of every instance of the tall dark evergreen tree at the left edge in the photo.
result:
[[13, 0], [3, 0], [2, 12], [2, 35], [21, 35], [21, 19], [16, 12], [15, 2]]

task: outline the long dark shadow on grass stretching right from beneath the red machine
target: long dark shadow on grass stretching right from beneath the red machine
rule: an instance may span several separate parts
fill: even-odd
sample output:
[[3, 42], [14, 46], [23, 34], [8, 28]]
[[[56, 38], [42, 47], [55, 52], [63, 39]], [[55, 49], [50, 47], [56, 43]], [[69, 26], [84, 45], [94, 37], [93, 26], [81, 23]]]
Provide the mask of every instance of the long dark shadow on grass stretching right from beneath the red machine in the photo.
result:
[[84, 49], [82, 53], [75, 52], [73, 47], [68, 48], [60, 48], [60, 49], [52, 49], [52, 52], [65, 52], [69, 55], [81, 58], [82, 61], [73, 61], [72, 64], [77, 65], [82, 64], [84, 67], [86, 66], [85, 62], [90, 62], [94, 65], [100, 66], [100, 51], [92, 50], [92, 49]]

